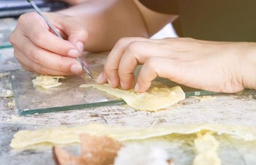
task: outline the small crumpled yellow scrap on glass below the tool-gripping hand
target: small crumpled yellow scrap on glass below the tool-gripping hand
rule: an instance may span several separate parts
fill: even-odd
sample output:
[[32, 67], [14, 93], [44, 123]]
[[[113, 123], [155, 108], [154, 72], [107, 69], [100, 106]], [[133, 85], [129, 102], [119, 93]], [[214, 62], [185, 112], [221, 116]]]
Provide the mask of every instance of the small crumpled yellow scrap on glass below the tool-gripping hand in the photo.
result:
[[56, 86], [60, 86], [59, 79], [65, 79], [63, 76], [51, 76], [51, 75], [41, 75], [32, 80], [33, 84], [36, 86], [41, 86], [42, 88], [48, 89]]

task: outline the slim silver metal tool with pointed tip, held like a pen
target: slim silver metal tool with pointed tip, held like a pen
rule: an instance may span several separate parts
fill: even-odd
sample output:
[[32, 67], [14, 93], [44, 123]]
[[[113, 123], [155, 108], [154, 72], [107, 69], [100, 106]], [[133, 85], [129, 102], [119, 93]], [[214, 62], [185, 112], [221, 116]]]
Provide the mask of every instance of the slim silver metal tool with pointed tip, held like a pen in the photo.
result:
[[[49, 22], [49, 20], [44, 16], [44, 14], [41, 12], [41, 10], [36, 6], [35, 2], [33, 0], [27, 0], [32, 6], [33, 8], [35, 8], [36, 12], [41, 15], [41, 17], [45, 20], [45, 22], [47, 23], [47, 25], [49, 26], [49, 28], [52, 29], [52, 31], [54, 31], [54, 33], [56, 34], [56, 36], [62, 38], [62, 36], [60, 35], [60, 33], [58, 31], [56, 31], [56, 29], [52, 26], [51, 22]], [[62, 38], [63, 39], [63, 38]], [[90, 77], [93, 79], [93, 81], [95, 81], [95, 78], [92, 75], [92, 72], [89, 70], [88, 67], [86, 67], [86, 65], [84, 65], [83, 61], [79, 58], [76, 58], [77, 61], [79, 61], [79, 63], [82, 65], [83, 69], [85, 70], [85, 72], [87, 72]]]

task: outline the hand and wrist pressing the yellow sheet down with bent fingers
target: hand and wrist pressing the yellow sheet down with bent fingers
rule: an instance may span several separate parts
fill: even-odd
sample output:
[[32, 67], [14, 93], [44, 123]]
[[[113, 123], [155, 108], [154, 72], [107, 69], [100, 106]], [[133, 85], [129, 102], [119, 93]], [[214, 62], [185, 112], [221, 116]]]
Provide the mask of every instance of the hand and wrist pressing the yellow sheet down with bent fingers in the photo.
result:
[[244, 54], [250, 43], [208, 42], [192, 38], [122, 38], [110, 52], [97, 83], [134, 87], [134, 70], [143, 64], [134, 90], [147, 91], [157, 76], [207, 91], [244, 89]]

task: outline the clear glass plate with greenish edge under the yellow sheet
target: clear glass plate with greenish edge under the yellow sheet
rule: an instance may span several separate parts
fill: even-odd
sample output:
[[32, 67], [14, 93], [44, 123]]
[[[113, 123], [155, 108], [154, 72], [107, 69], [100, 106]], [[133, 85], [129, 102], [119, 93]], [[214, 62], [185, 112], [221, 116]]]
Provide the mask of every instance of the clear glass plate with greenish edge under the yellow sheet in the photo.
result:
[[[103, 64], [90, 66], [94, 73], [100, 73], [102, 68]], [[92, 79], [88, 76], [83, 75], [60, 79], [62, 84], [50, 89], [34, 86], [32, 80], [35, 79], [35, 76], [31, 72], [23, 71], [13, 71], [9, 75], [15, 103], [20, 115], [125, 104], [124, 100], [120, 100], [120, 98], [113, 97], [95, 88], [79, 88], [81, 84], [93, 83]], [[167, 79], [157, 79], [157, 81], [161, 81], [170, 87], [179, 85]], [[186, 97], [214, 94], [186, 86], [181, 87], [186, 92]]]

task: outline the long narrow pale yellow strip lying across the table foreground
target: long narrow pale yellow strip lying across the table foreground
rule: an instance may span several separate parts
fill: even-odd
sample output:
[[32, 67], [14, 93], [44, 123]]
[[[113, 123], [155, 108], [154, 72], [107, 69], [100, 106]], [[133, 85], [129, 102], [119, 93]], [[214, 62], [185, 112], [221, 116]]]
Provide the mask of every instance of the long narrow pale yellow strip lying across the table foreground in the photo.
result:
[[194, 134], [202, 130], [228, 134], [234, 138], [253, 141], [256, 139], [256, 127], [242, 127], [236, 125], [201, 124], [201, 125], [172, 125], [165, 127], [115, 127], [100, 123], [88, 123], [76, 127], [53, 127], [51, 129], [20, 130], [14, 134], [12, 148], [25, 148], [40, 143], [65, 145], [81, 143], [79, 135], [108, 136], [118, 141], [140, 140], [165, 136], [169, 134]]

